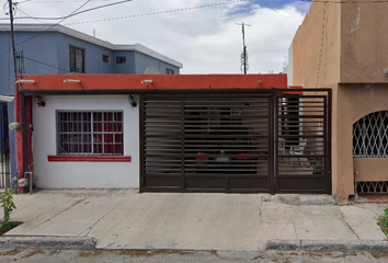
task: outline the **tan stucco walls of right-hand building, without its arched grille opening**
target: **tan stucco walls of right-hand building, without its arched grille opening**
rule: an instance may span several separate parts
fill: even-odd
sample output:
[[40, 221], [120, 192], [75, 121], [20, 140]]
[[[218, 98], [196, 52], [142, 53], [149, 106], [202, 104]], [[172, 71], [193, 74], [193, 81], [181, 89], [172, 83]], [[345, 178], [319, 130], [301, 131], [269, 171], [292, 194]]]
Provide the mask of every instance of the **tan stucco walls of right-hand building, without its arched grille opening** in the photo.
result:
[[339, 201], [354, 194], [353, 124], [388, 110], [387, 13], [388, 3], [313, 2], [293, 42], [293, 84], [333, 91], [332, 193]]

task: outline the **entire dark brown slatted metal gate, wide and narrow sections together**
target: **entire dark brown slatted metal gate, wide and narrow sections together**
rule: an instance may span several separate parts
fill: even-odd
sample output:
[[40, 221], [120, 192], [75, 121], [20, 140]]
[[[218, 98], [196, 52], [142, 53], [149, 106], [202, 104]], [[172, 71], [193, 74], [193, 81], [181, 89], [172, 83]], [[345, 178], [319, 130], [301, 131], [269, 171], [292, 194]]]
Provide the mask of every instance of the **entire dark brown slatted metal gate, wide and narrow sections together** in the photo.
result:
[[140, 191], [330, 193], [328, 92], [140, 95]]

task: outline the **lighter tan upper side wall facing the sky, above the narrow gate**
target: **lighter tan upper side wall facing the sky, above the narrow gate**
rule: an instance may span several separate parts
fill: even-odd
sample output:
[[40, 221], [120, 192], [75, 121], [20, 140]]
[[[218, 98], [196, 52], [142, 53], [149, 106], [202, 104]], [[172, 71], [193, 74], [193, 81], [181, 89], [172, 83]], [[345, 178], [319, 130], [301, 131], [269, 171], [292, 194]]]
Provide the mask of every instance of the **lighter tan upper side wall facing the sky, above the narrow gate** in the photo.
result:
[[293, 42], [293, 84], [323, 88], [340, 81], [340, 4], [311, 4]]

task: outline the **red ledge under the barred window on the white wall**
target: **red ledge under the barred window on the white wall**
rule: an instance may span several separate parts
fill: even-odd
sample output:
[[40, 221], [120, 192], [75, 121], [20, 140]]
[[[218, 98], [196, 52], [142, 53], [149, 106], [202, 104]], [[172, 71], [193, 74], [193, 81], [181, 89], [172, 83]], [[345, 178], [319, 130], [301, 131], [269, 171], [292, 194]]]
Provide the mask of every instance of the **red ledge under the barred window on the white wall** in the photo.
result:
[[130, 162], [130, 156], [47, 156], [49, 162]]

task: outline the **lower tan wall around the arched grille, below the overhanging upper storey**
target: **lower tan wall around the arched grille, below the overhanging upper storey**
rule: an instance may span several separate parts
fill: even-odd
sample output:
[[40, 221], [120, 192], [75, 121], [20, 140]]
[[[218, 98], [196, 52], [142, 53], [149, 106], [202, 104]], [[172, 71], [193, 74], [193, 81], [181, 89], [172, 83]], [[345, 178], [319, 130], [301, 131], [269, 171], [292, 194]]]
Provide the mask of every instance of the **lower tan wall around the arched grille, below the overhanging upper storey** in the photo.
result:
[[[333, 172], [338, 174], [336, 197], [347, 199], [349, 195], [354, 194], [353, 124], [369, 113], [388, 111], [388, 84], [373, 84], [368, 90], [364, 89], [364, 84], [340, 84], [338, 94]], [[387, 170], [381, 171], [385, 172], [384, 181], [388, 181]]]

